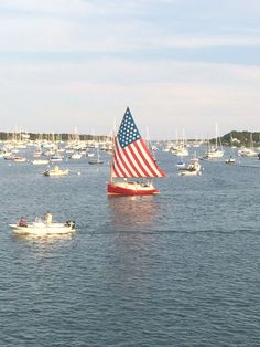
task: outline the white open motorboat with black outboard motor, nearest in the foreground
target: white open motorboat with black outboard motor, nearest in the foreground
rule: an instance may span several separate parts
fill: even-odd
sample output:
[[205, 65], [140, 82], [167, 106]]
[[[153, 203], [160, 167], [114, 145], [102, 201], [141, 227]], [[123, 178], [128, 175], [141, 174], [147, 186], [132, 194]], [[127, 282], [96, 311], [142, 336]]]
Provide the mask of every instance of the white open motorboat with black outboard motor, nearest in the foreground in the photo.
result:
[[75, 222], [67, 221], [65, 223], [51, 223], [47, 225], [43, 221], [35, 221], [32, 223], [28, 223], [25, 227], [20, 227], [17, 224], [9, 224], [12, 231], [19, 235], [37, 235], [37, 236], [46, 236], [46, 235], [59, 235], [75, 232]]

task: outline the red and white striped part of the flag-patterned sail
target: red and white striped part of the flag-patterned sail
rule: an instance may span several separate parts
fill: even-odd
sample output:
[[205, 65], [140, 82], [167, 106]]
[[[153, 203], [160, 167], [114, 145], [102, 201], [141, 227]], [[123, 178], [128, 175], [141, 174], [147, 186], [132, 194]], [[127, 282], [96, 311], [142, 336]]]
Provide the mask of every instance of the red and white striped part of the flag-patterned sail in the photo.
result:
[[115, 139], [112, 177], [165, 177], [166, 175], [154, 161], [145, 141], [140, 138], [132, 144], [120, 147]]

